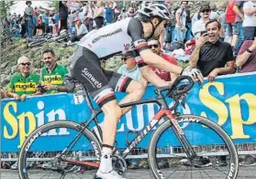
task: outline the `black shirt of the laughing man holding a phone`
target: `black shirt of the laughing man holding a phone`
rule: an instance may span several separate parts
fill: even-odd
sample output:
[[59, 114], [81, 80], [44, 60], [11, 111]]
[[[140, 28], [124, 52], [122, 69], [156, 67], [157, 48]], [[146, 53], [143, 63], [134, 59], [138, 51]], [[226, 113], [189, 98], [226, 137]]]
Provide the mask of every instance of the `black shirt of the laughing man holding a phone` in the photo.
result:
[[227, 42], [206, 43], [199, 51], [197, 67], [207, 77], [214, 68], [224, 68], [228, 61], [233, 60], [232, 47]]

